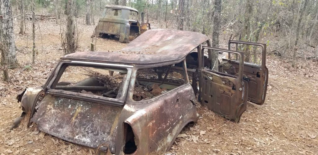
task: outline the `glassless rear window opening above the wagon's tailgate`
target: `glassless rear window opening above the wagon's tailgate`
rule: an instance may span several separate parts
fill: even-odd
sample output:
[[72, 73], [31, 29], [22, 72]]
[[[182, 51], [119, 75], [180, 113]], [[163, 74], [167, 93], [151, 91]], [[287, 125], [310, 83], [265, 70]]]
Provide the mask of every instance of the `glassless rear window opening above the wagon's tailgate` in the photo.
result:
[[52, 89], [118, 99], [126, 82], [127, 69], [66, 64]]

